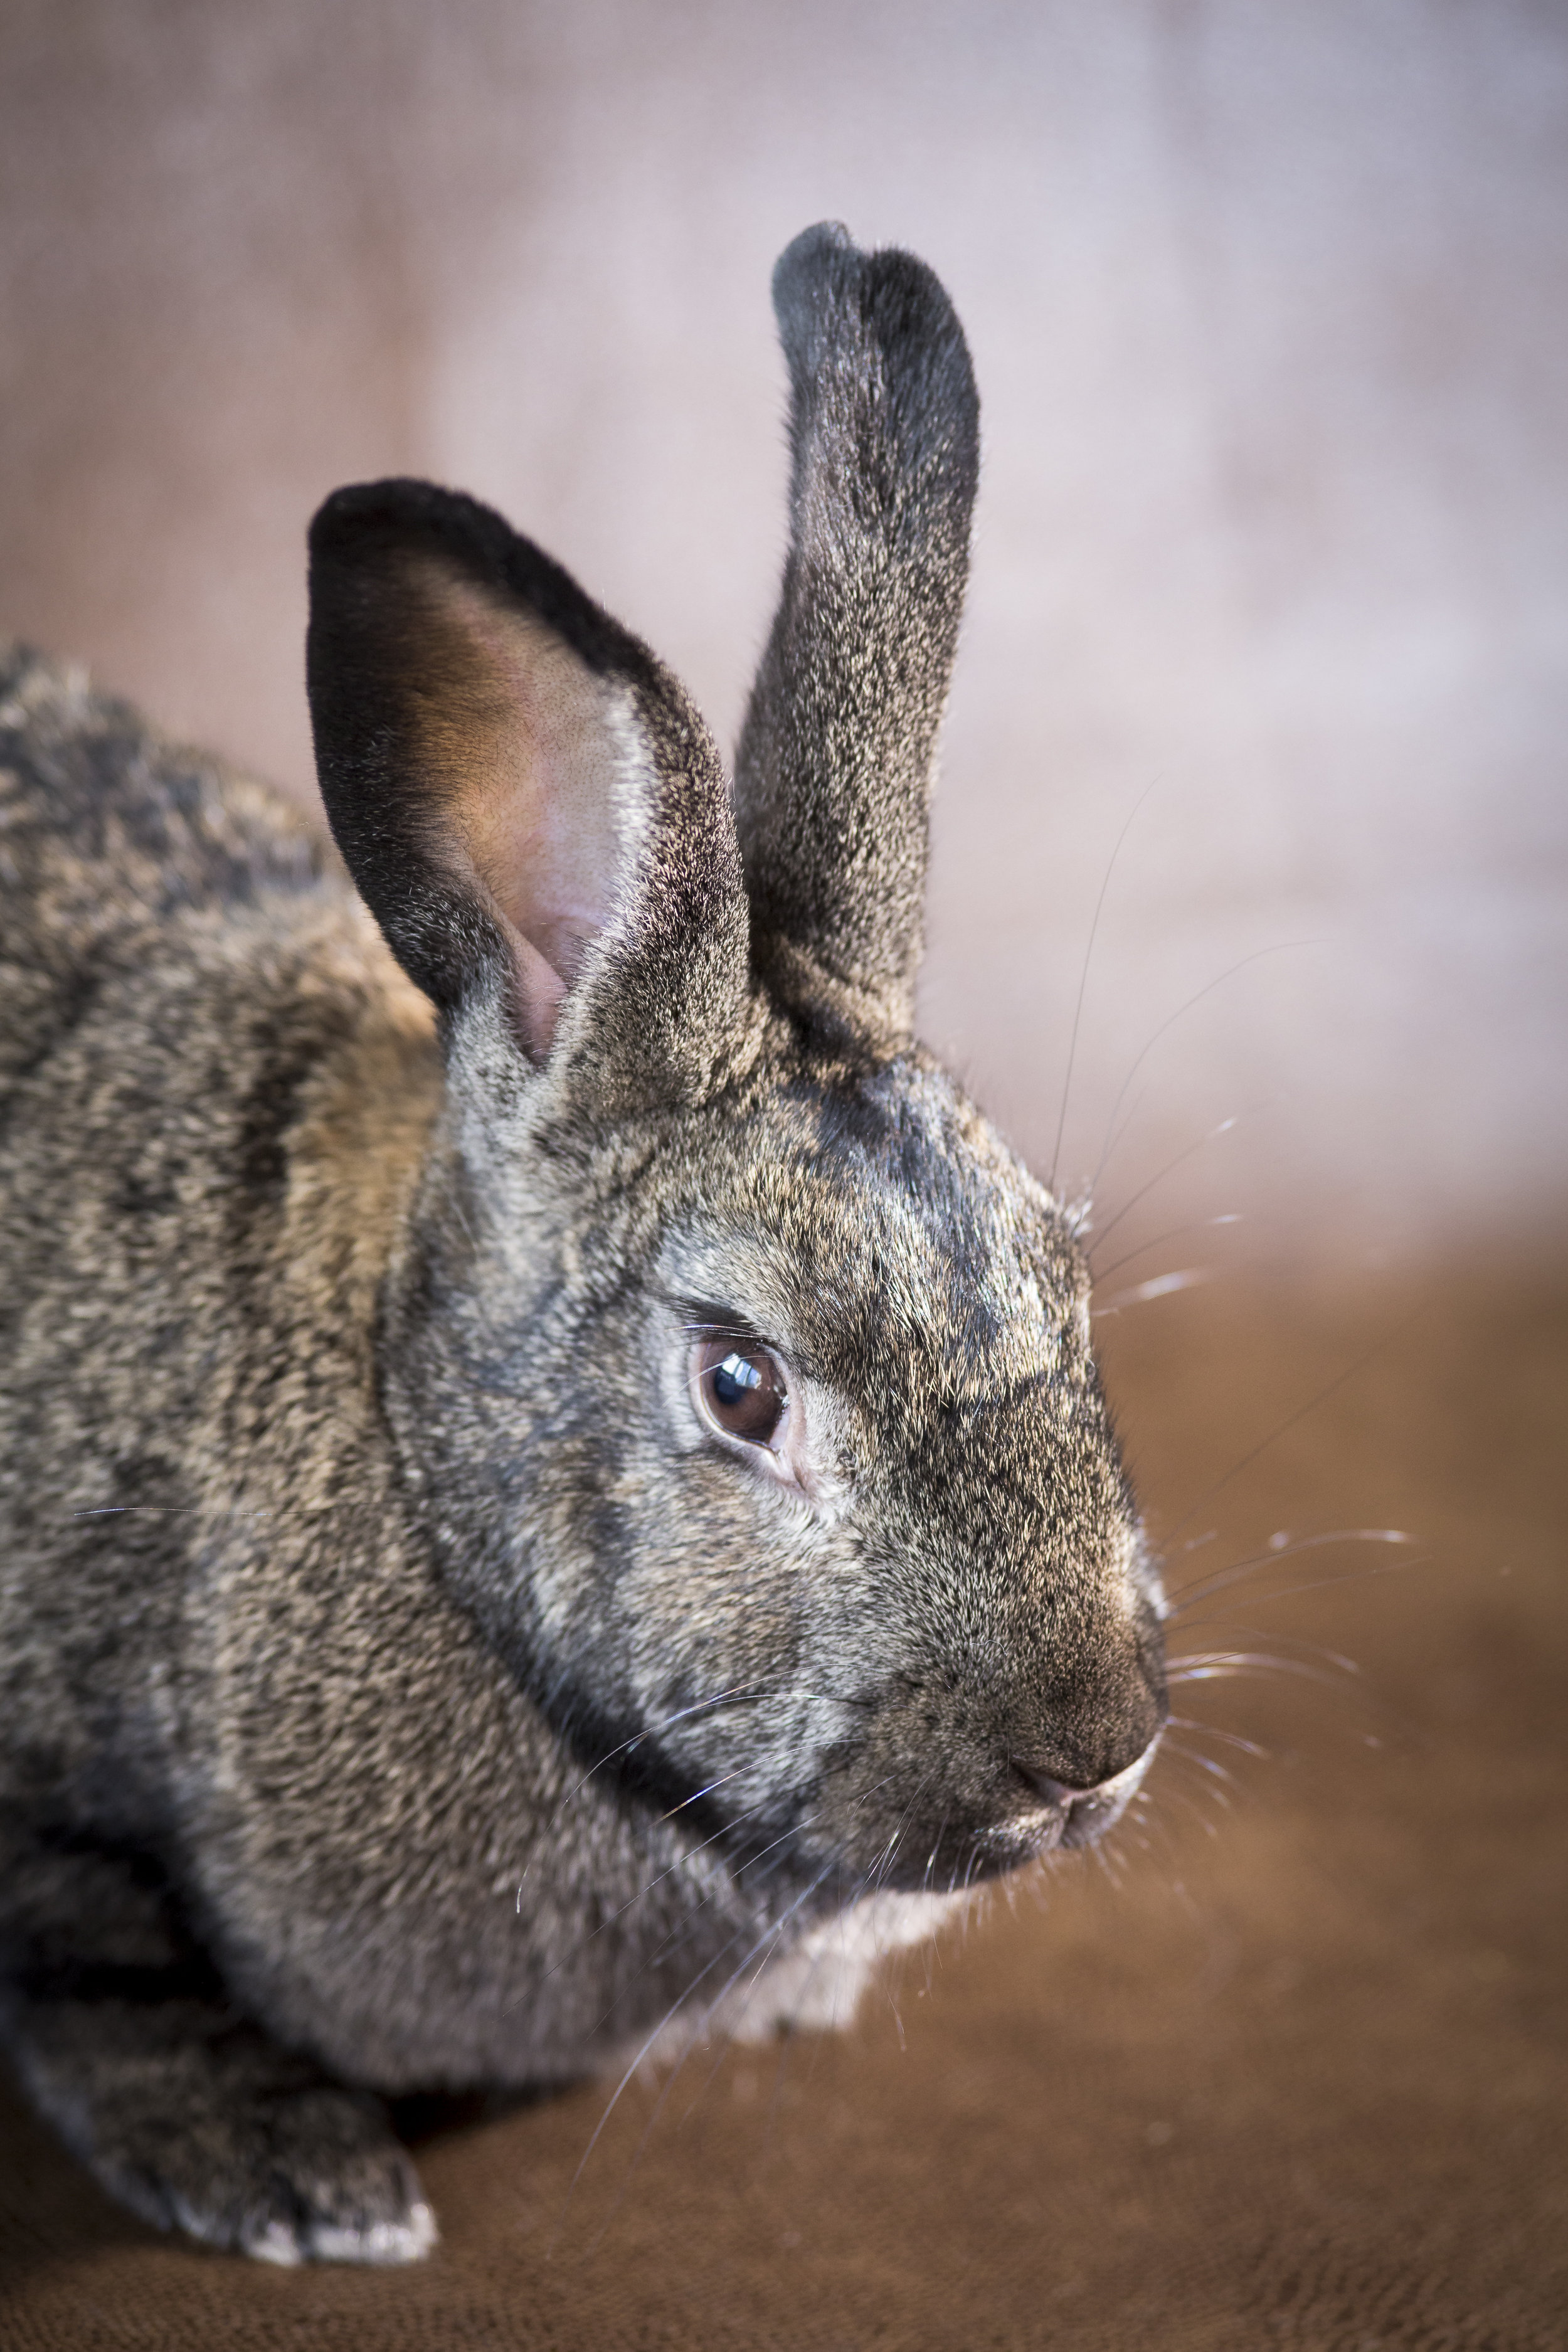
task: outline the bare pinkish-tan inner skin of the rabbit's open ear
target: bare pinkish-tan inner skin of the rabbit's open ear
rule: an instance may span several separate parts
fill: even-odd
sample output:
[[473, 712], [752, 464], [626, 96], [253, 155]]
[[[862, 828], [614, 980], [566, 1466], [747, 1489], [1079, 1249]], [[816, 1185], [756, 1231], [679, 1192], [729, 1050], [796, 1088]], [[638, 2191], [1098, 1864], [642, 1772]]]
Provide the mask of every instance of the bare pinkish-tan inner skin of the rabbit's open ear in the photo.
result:
[[421, 753], [442, 818], [512, 934], [529, 1054], [604, 931], [621, 861], [607, 689], [536, 614], [425, 572], [442, 663], [421, 696]]

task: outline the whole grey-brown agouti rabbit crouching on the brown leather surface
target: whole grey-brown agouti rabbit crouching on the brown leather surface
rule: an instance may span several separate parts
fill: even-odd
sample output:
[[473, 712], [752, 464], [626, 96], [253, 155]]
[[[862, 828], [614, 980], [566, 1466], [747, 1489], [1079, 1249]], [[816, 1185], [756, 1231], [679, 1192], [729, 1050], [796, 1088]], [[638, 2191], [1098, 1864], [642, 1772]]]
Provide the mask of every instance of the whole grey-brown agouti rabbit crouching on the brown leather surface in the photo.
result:
[[912, 1030], [964, 334], [773, 303], [733, 788], [425, 482], [310, 527], [331, 840], [0, 670], [0, 2020], [212, 2246], [423, 2256], [390, 2098], [842, 2023], [1161, 1733], [1072, 1218]]

